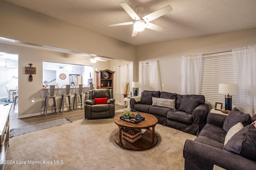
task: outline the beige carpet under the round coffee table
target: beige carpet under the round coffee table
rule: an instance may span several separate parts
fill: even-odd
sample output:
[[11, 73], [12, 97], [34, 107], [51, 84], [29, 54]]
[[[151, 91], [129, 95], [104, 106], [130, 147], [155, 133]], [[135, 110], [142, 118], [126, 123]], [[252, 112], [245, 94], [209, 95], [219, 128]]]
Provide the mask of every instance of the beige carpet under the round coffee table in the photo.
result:
[[[113, 118], [74, 121], [11, 138], [6, 160], [14, 160], [14, 164], [6, 164], [4, 169], [184, 169], [184, 142], [196, 136], [159, 124], [155, 130], [159, 141], [154, 148], [132, 151], [116, 145], [118, 126]], [[22, 161], [26, 164], [17, 164]]]

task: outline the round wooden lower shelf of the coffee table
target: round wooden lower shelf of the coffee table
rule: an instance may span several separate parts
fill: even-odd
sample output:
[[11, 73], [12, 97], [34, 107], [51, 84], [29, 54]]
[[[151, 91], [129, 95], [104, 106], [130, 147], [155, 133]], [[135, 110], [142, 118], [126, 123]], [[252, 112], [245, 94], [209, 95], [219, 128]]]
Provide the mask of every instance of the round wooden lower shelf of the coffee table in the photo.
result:
[[[116, 132], [114, 139], [115, 139], [116, 144], [119, 145], [119, 131]], [[122, 143], [123, 143], [123, 145], [119, 145], [119, 146], [124, 149], [147, 150], [147, 149], [150, 149], [150, 148], [156, 146], [156, 144], [158, 143], [158, 136], [156, 133], [154, 134], [154, 142], [152, 143], [152, 131], [147, 130], [147, 132], [144, 133], [138, 141], [131, 143], [122, 138]]]

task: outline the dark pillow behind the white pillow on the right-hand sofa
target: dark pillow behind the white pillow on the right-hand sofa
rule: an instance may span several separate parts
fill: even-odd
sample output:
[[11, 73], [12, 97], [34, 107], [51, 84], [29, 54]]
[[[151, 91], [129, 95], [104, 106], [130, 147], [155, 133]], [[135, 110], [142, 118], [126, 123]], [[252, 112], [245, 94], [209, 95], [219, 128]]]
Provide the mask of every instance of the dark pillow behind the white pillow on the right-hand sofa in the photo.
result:
[[249, 125], [252, 122], [252, 118], [250, 114], [243, 113], [242, 111], [238, 110], [236, 107], [230, 111], [227, 118], [223, 123], [223, 129], [228, 132], [229, 129], [236, 125], [238, 122], [241, 122], [244, 126]]

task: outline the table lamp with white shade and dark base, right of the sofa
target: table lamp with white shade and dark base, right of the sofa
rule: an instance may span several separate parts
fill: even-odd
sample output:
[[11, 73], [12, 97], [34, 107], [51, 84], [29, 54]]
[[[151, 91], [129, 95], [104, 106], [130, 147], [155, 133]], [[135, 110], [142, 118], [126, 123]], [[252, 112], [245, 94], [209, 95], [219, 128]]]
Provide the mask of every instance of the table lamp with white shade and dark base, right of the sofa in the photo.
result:
[[225, 110], [232, 110], [232, 96], [230, 94], [238, 94], [238, 84], [220, 83], [219, 93], [228, 94], [225, 95]]

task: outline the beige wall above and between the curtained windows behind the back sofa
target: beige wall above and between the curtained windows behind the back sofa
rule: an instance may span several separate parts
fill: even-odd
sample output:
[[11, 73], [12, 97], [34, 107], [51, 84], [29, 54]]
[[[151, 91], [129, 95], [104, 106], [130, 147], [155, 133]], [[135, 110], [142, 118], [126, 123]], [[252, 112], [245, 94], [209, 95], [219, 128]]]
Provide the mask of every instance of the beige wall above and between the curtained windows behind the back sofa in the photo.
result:
[[[181, 93], [181, 57], [256, 45], [256, 29], [137, 46], [138, 61], [159, 61], [162, 91]], [[138, 69], [138, 64], [136, 65]]]

